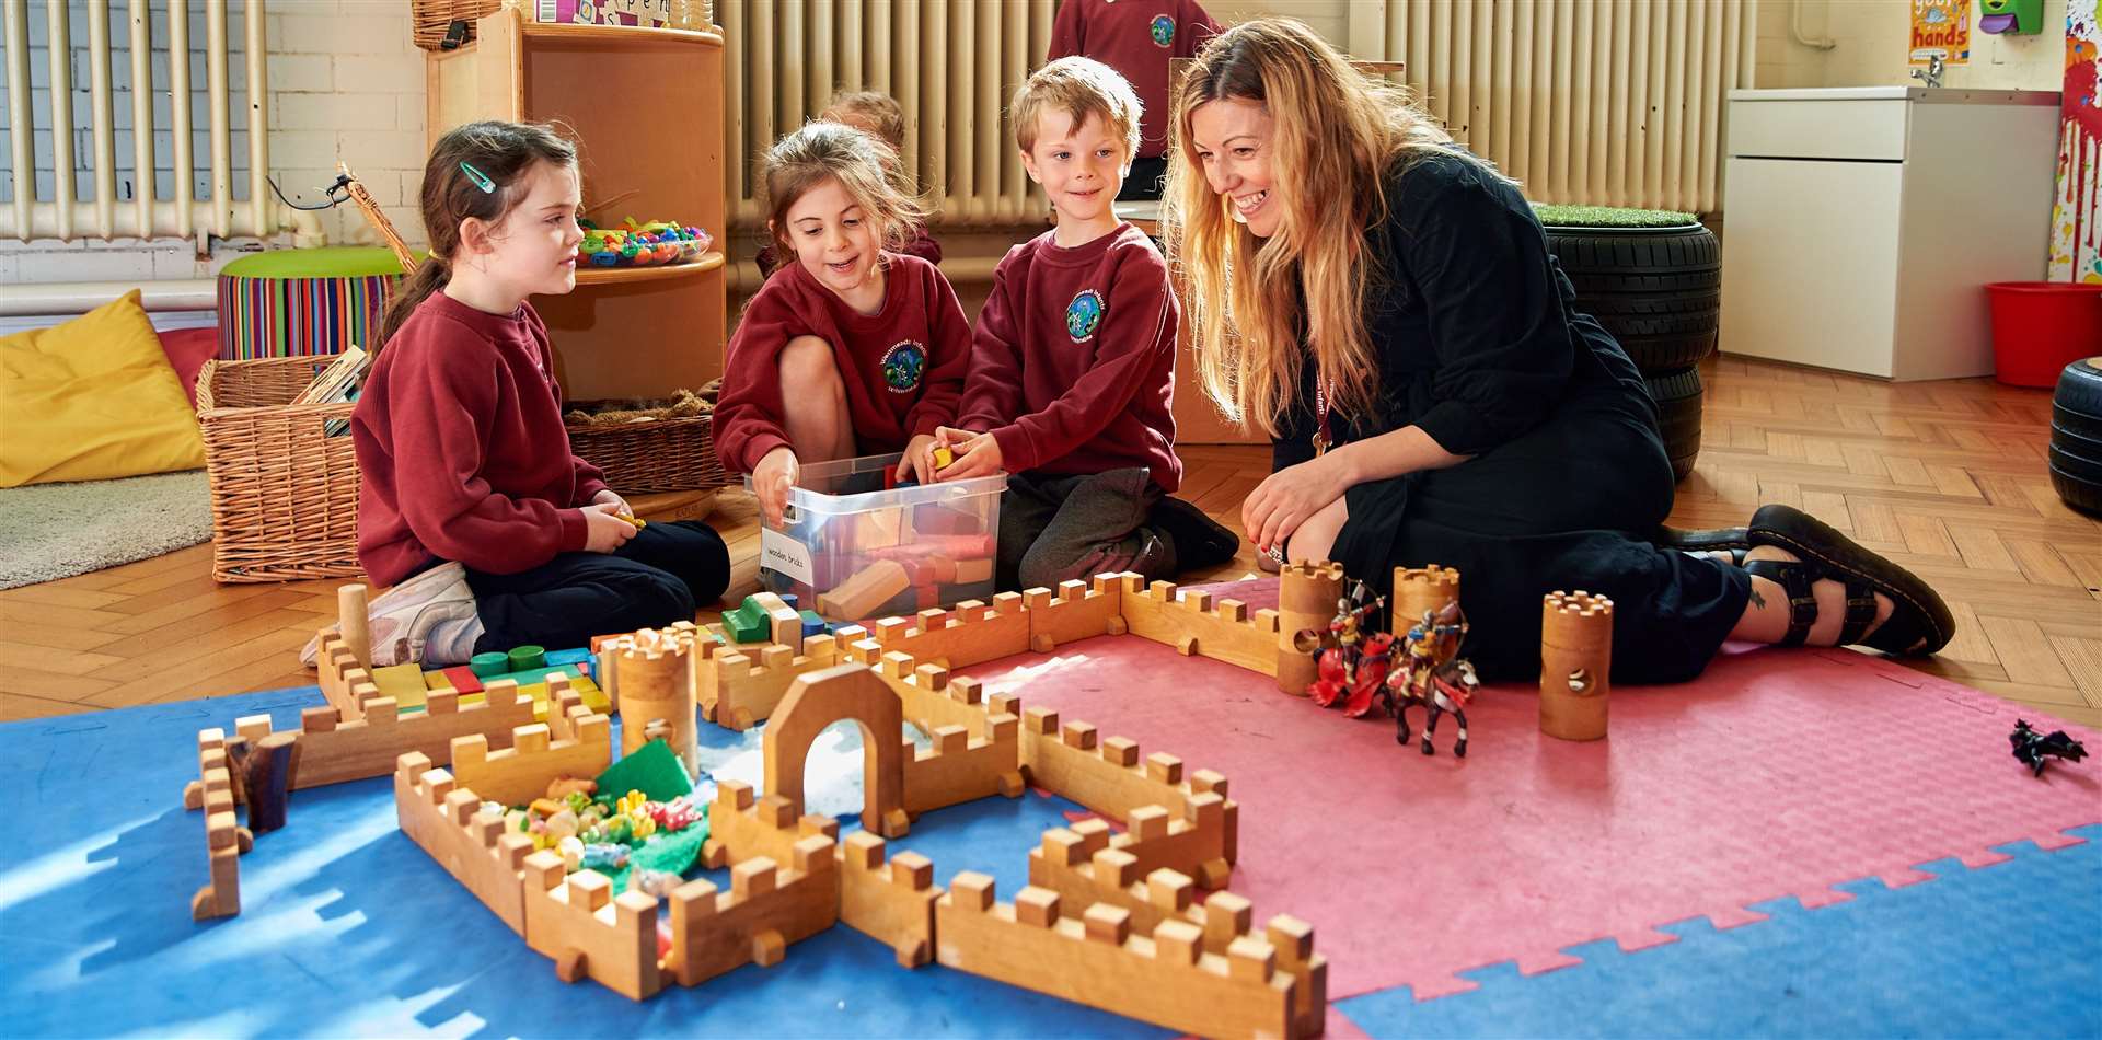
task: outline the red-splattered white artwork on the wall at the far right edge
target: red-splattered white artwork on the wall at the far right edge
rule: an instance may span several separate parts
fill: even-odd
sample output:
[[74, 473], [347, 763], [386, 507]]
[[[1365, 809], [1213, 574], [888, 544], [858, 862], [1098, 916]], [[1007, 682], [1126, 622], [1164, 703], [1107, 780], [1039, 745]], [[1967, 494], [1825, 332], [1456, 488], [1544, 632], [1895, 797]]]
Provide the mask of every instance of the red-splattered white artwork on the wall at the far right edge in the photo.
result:
[[2096, 0], [2066, 0], [2066, 84], [2060, 95], [2052, 282], [2102, 284], [2102, 27]]

